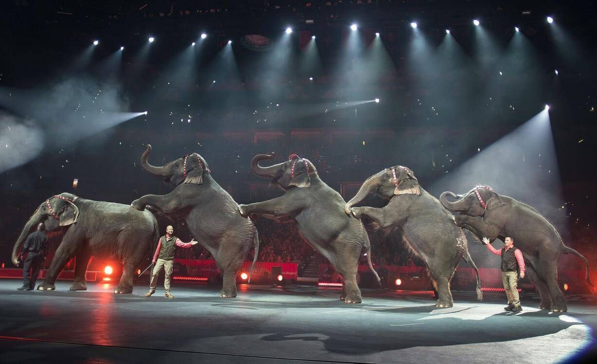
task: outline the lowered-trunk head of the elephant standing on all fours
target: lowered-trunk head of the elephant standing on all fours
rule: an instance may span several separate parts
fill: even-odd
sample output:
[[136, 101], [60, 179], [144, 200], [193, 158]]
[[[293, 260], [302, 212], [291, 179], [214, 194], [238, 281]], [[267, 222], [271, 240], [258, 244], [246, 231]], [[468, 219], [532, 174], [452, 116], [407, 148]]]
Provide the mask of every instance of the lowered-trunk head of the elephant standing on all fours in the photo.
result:
[[68, 226], [76, 223], [79, 217], [79, 208], [75, 205], [77, 196], [70, 193], [61, 193], [60, 195], [52, 196], [39, 205], [29, 218], [19, 239], [14, 243], [13, 247], [13, 264], [17, 265], [19, 261], [19, 254], [21, 246], [27, 236], [32, 233], [39, 223], [45, 224], [46, 231], [57, 230], [62, 226]]

